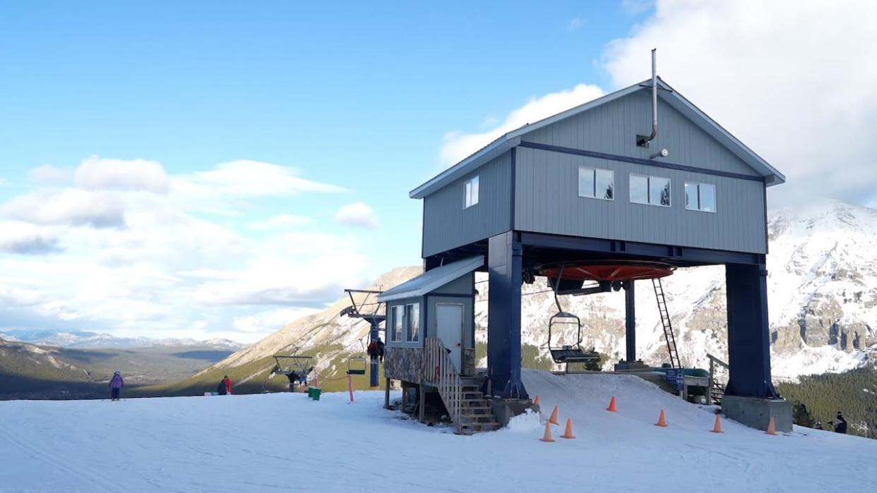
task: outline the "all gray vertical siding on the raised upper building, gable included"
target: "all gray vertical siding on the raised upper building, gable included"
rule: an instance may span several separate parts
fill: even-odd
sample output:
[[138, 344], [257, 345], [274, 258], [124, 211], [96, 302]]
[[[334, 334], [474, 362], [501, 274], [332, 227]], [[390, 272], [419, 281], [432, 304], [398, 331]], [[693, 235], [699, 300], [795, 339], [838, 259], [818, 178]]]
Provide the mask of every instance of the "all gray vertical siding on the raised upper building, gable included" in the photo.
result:
[[[659, 102], [658, 137], [648, 149], [636, 135], [651, 130], [651, 98], [638, 91], [614, 102], [570, 116], [522, 136], [523, 142], [630, 158], [649, 158], [667, 148], [669, 164], [710, 172], [759, 177], [714, 138], [681, 113]], [[424, 248], [428, 257], [484, 240], [509, 229], [569, 236], [618, 239], [714, 250], [766, 253], [765, 195], [760, 180], [742, 180], [558, 151], [517, 147], [515, 205], [510, 208], [510, 152], [424, 199]], [[578, 166], [615, 172], [615, 200], [578, 196]], [[630, 173], [671, 180], [672, 207], [630, 202]], [[475, 174], [480, 201], [463, 209], [463, 184]], [[716, 213], [685, 208], [685, 181], [716, 186]]]

